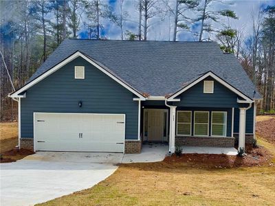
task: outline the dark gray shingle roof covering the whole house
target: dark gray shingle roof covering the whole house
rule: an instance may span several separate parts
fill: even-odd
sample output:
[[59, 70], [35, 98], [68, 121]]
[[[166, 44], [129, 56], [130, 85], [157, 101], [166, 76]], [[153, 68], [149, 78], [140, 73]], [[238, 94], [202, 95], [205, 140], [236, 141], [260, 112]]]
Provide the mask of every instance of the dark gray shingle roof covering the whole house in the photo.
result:
[[250, 98], [254, 84], [233, 54], [214, 42], [98, 41], [66, 39], [28, 82], [80, 51], [113, 71], [133, 88], [149, 95], [168, 95], [186, 82], [212, 71]]

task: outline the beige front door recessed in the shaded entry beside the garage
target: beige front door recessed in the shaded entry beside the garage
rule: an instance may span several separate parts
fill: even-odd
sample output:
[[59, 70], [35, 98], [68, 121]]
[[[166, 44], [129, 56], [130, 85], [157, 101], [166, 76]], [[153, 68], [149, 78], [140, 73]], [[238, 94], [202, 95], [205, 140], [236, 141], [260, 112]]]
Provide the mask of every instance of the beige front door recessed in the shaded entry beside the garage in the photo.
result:
[[160, 109], [148, 110], [148, 141], [163, 141], [164, 111]]

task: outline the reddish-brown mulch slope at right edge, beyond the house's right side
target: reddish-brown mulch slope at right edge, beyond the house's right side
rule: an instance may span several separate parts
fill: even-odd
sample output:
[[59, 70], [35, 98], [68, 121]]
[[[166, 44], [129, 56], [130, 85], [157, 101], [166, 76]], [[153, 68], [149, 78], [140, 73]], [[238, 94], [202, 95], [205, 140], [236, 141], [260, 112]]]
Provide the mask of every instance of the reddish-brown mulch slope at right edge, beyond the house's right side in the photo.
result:
[[275, 118], [256, 122], [256, 134], [275, 144]]

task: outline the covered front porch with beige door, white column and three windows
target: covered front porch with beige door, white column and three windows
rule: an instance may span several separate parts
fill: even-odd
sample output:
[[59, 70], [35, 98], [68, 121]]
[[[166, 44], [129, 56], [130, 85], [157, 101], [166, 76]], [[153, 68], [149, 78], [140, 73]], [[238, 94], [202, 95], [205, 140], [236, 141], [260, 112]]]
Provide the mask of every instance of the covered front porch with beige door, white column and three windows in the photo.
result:
[[[147, 143], [166, 143], [170, 153], [179, 146], [186, 153], [236, 155], [234, 146], [239, 140], [236, 135], [239, 132], [239, 108], [166, 104], [164, 101], [143, 102], [140, 126], [142, 149], [144, 143], [145, 146]], [[251, 138], [245, 139], [245, 143], [246, 140]]]

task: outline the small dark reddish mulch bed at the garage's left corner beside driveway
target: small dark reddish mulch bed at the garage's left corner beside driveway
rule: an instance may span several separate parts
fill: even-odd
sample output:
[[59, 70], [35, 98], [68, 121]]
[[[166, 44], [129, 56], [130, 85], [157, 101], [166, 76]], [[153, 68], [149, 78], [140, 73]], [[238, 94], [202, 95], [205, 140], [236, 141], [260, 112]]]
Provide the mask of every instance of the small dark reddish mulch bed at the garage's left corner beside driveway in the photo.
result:
[[18, 148], [14, 148], [12, 150], [8, 150], [7, 152], [3, 152], [3, 154], [1, 154], [2, 158], [0, 159], [0, 163], [17, 161], [18, 157], [23, 158], [25, 156], [33, 155], [33, 154], [34, 152], [32, 150], [26, 150], [26, 149], [19, 150]]

